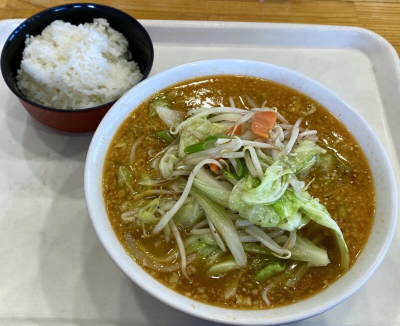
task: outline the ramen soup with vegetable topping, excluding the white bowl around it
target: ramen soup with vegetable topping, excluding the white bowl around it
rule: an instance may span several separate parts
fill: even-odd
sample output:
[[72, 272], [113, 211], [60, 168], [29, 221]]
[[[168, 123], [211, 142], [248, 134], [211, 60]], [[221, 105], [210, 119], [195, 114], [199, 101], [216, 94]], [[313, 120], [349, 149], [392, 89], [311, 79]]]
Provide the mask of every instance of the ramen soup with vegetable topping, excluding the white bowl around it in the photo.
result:
[[109, 145], [103, 195], [121, 245], [155, 279], [211, 305], [265, 309], [351, 268], [373, 221], [372, 176], [312, 98], [218, 75], [132, 109]]

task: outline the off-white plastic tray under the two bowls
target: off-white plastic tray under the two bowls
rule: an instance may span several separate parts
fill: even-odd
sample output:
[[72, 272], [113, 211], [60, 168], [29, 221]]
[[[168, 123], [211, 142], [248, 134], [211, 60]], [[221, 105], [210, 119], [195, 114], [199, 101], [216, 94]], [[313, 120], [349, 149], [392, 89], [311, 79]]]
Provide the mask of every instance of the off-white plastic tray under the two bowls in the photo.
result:
[[[21, 19], [0, 21], [0, 48]], [[272, 62], [333, 89], [384, 144], [399, 180], [400, 62], [360, 28], [142, 20], [152, 73], [234, 57]], [[86, 212], [83, 167], [91, 134], [34, 120], [0, 80], [0, 324], [211, 325], [134, 285], [111, 261]], [[397, 153], [397, 155], [396, 155]], [[400, 231], [374, 275], [349, 299], [299, 325], [400, 324]]]

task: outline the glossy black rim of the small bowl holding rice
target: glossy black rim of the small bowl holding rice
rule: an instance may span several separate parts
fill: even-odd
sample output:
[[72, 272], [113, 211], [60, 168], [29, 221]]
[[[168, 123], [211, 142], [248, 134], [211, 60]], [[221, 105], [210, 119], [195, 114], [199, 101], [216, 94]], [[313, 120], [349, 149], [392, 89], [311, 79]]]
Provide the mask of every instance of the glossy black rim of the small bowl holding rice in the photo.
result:
[[[115, 13], [119, 14], [119, 15], [123, 15], [126, 18], [128, 18], [129, 20], [131, 20], [133, 22], [133, 24], [135, 24], [140, 31], [144, 34], [145, 38], [148, 40], [149, 44], [150, 44], [150, 60], [148, 62], [148, 65], [143, 73], [143, 76], [141, 77], [141, 79], [137, 82], [139, 83], [140, 81], [144, 80], [147, 78], [148, 74], [151, 71], [152, 68], [152, 64], [153, 64], [153, 60], [154, 60], [154, 47], [153, 47], [153, 43], [152, 40], [150, 38], [150, 35], [148, 34], [147, 30], [143, 27], [143, 25], [134, 17], [132, 17], [130, 14], [119, 10], [117, 8], [114, 8], [112, 6], [109, 5], [105, 5], [105, 4], [99, 4], [99, 3], [90, 3], [90, 2], [77, 2], [77, 3], [65, 3], [65, 4], [61, 4], [61, 5], [57, 5], [57, 6], [53, 6], [47, 9], [44, 9], [42, 11], [39, 11], [33, 15], [31, 15], [30, 17], [26, 18], [24, 21], [22, 21], [7, 37], [7, 39], [4, 42], [3, 45], [3, 49], [1, 51], [1, 56], [0, 56], [0, 69], [1, 69], [1, 74], [2, 77], [4, 79], [5, 84], [7, 85], [7, 87], [20, 99], [23, 100], [25, 102], [28, 102], [31, 105], [34, 105], [38, 108], [41, 109], [45, 109], [45, 110], [50, 110], [50, 111], [57, 111], [57, 112], [67, 112], [67, 113], [72, 113], [72, 112], [84, 112], [84, 111], [90, 111], [90, 110], [95, 110], [97, 108], [102, 108], [104, 106], [111, 106], [113, 105], [121, 96], [119, 96], [118, 98], [104, 103], [104, 104], [100, 104], [100, 105], [96, 105], [96, 106], [92, 106], [92, 107], [85, 107], [85, 108], [73, 108], [73, 109], [63, 109], [63, 108], [55, 108], [55, 107], [50, 107], [50, 106], [45, 106], [39, 103], [35, 103], [33, 101], [31, 101], [29, 98], [27, 98], [25, 95], [23, 95], [20, 91], [17, 91], [9, 82], [8, 82], [8, 78], [6, 78], [5, 76], [5, 65], [6, 62], [4, 61], [4, 53], [7, 50], [7, 47], [9, 45], [9, 43], [12, 41], [12, 38], [14, 37], [14, 35], [16, 35], [17, 33], [23, 32], [23, 29], [32, 21], [40, 19], [40, 17], [42, 15], [45, 15], [49, 12], [54, 12], [54, 11], [59, 11], [61, 9], [69, 9], [69, 8], [78, 8], [78, 7], [89, 7], [91, 9], [96, 9], [96, 8], [103, 8], [103, 9], [107, 9], [107, 10], [112, 10]], [[44, 27], [43, 27], [44, 28]], [[121, 32], [123, 34], [123, 32]], [[15, 76], [14, 76], [15, 77]], [[135, 86], [135, 85], [133, 85]], [[132, 86], [132, 87], [133, 87]], [[17, 88], [17, 87], [16, 87]]]

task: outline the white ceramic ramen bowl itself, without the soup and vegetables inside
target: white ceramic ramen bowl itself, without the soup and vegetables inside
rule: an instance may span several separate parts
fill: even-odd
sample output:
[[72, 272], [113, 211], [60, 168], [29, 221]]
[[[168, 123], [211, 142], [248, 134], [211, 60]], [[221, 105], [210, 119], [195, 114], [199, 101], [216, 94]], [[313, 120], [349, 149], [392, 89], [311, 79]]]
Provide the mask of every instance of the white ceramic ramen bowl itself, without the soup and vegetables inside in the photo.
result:
[[[124, 251], [104, 209], [102, 169], [108, 144], [123, 119], [153, 93], [189, 78], [216, 74], [248, 75], [287, 85], [312, 97], [336, 115], [366, 154], [376, 188], [376, 214], [371, 235], [353, 267], [331, 286], [300, 302], [269, 310], [233, 310], [200, 303], [165, 287], [147, 274]], [[86, 204], [97, 235], [118, 267], [145, 291], [187, 314], [236, 325], [269, 325], [305, 319], [344, 300], [379, 265], [389, 246], [397, 215], [397, 191], [382, 144], [358, 113], [322, 84], [286, 68], [245, 60], [221, 59], [187, 63], [157, 73], [126, 92], [108, 111], [91, 140], [84, 171]]]

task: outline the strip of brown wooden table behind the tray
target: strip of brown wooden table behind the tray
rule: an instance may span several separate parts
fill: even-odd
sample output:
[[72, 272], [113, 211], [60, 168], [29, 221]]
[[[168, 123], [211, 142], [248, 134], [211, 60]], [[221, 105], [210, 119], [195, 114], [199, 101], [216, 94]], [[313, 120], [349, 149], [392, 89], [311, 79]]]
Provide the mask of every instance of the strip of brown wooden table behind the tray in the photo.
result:
[[[0, 0], [0, 19], [28, 17], [37, 11], [65, 2], [69, 1]], [[115, 6], [135, 18], [360, 26], [385, 37], [395, 47], [397, 53], [400, 53], [400, 0], [94, 0], [91, 2]]]

